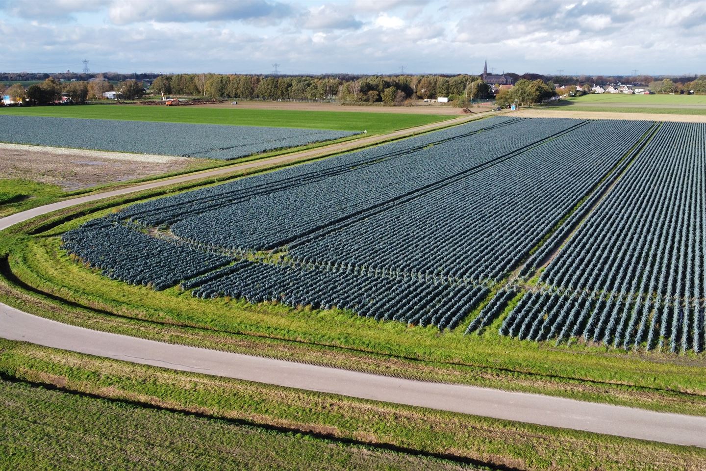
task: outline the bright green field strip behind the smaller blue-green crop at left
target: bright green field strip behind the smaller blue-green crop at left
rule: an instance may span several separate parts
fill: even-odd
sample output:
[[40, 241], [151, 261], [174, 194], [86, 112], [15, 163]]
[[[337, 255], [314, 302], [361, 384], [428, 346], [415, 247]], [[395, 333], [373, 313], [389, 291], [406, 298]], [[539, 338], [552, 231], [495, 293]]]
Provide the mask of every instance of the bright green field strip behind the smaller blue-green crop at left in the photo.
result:
[[438, 114], [306, 112], [278, 109], [83, 105], [73, 107], [3, 107], [0, 114], [63, 118], [167, 121], [234, 126], [275, 126], [386, 133], [451, 119]]

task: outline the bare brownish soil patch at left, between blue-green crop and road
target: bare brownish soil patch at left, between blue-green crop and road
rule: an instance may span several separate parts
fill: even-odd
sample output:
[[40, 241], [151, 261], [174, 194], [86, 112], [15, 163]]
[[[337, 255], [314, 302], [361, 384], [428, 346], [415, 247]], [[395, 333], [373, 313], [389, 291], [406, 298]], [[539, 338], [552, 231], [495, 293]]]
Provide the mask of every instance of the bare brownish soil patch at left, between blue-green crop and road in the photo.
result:
[[210, 160], [0, 143], [0, 179], [56, 184], [67, 191], [203, 167]]

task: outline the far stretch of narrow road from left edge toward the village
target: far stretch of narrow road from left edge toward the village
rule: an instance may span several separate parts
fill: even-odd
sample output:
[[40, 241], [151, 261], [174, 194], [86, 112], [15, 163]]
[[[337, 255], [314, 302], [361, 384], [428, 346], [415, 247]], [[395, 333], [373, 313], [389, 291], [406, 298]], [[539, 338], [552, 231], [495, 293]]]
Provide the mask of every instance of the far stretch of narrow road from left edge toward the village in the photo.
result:
[[216, 177], [222, 174], [228, 174], [232, 172], [239, 172], [241, 170], [253, 169], [256, 167], [265, 167], [268, 165], [276, 165], [287, 162], [296, 162], [297, 160], [307, 160], [313, 157], [331, 155], [333, 153], [346, 152], [348, 150], [355, 150], [357, 148], [365, 147], [367, 145], [373, 145], [376, 143], [381, 143], [384, 141], [389, 141], [390, 139], [403, 138], [407, 136], [414, 136], [414, 134], [422, 133], [426, 131], [431, 131], [432, 129], [443, 128], [446, 126], [451, 126], [454, 124], [462, 124], [467, 121], [473, 121], [474, 119], [480, 119], [481, 117], [491, 116], [495, 114], [493, 112], [483, 113], [483, 114], [467, 114], [461, 117], [447, 119], [445, 121], [437, 121], [431, 124], [424, 124], [422, 126], [416, 126], [414, 128], [400, 129], [400, 131], [394, 131], [392, 133], [380, 134], [376, 136], [369, 136], [364, 138], [354, 139], [353, 141], [346, 141], [342, 143], [324, 145], [319, 148], [310, 150], [301, 150], [300, 152], [295, 152], [291, 154], [278, 155], [277, 157], [270, 157], [261, 160], [253, 160], [252, 162], [244, 162], [236, 165], [228, 165], [227, 167], [220, 167], [213, 170], [206, 170], [203, 172], [195, 172], [186, 175], [181, 175], [179, 177], [170, 177], [166, 179], [161, 179], [157, 181], [150, 181], [145, 184], [138, 184], [135, 186], [128, 186], [126, 188], [121, 188], [118, 190], [105, 191], [103, 193], [95, 193], [87, 196], [79, 196], [78, 198], [71, 198], [64, 201], [59, 201], [57, 203], [52, 203], [49, 205], [40, 206], [39, 208], [32, 208], [30, 210], [23, 211], [22, 213], [16, 213], [3, 217], [0, 219], [0, 230], [7, 229], [12, 225], [16, 225], [19, 222], [23, 222], [32, 217], [40, 216], [43, 214], [51, 213], [52, 211], [61, 210], [65, 208], [71, 208], [71, 206], [80, 205], [83, 203], [89, 203], [90, 201], [97, 201], [103, 198], [110, 198], [112, 196], [121, 196], [128, 193], [136, 193], [138, 191], [144, 191], [149, 189], [159, 188], [160, 186], [168, 186], [177, 183], [184, 183], [185, 181], [193, 181], [198, 179], [205, 179], [209, 177]]

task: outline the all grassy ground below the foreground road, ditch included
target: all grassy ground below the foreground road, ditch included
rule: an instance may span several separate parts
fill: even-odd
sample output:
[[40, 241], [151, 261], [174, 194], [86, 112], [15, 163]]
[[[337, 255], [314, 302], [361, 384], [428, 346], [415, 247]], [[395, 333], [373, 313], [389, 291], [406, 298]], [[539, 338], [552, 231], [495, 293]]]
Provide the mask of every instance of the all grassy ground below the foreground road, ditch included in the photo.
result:
[[0, 468], [8, 470], [481, 465], [666, 471], [700, 470], [706, 463], [700, 448], [171, 371], [8, 340], [0, 340], [0, 375]]

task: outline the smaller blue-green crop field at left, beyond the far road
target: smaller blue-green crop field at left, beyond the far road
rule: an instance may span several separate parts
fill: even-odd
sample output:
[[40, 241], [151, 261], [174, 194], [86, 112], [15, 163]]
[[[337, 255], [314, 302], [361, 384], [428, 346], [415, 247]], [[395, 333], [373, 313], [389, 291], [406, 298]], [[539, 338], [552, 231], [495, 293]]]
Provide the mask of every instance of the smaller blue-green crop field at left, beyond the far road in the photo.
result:
[[325, 129], [0, 116], [0, 142], [216, 160], [354, 134]]

